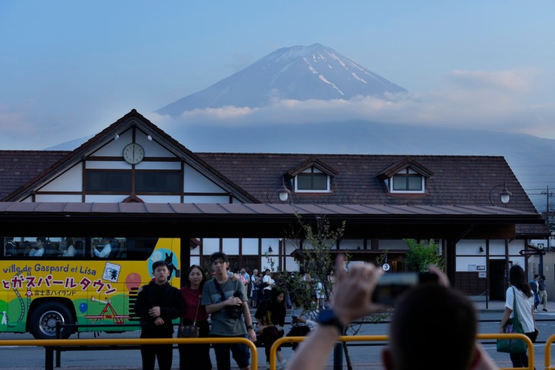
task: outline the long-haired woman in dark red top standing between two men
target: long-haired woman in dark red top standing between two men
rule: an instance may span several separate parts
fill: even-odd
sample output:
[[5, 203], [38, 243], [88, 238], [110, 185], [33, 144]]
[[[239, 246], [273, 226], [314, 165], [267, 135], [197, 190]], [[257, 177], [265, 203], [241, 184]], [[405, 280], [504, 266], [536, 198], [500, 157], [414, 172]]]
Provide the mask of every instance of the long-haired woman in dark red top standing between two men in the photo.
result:
[[[200, 305], [205, 282], [206, 273], [203, 268], [196, 264], [191, 265], [187, 271], [185, 287], [180, 289], [185, 302], [185, 311], [178, 328], [178, 338], [208, 337], [210, 333], [208, 314], [205, 307]], [[210, 344], [180, 344], [179, 369], [212, 369]]]

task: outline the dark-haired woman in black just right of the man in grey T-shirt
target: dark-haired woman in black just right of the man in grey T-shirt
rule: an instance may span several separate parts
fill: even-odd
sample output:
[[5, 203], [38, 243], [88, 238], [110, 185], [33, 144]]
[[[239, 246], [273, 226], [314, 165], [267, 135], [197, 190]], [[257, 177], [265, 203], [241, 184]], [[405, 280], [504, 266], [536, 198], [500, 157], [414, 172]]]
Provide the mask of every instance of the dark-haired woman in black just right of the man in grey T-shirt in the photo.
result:
[[[255, 317], [258, 319], [257, 339], [264, 342], [266, 362], [270, 362], [272, 344], [284, 334], [285, 293], [281, 289], [272, 289], [271, 299], [258, 306]], [[276, 357], [278, 358], [276, 369], [283, 369], [287, 361], [283, 358], [280, 349], [276, 352]], [[267, 368], [269, 369], [269, 365]]]

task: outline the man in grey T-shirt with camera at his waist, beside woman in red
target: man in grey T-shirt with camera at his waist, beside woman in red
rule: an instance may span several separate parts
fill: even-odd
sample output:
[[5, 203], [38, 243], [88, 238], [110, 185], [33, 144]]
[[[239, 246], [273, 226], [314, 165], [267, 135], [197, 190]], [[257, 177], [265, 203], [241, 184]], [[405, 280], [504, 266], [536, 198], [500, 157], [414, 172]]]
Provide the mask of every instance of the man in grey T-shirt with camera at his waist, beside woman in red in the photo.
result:
[[[210, 264], [214, 271], [214, 278], [205, 283], [201, 301], [212, 319], [210, 336], [245, 337], [248, 335], [249, 339], [255, 342], [256, 334], [253, 320], [250, 318], [245, 287], [239, 279], [232, 280], [228, 276], [228, 256], [221, 252], [212, 253]], [[232, 317], [233, 308], [240, 309], [237, 317]], [[245, 318], [244, 321], [241, 312]], [[250, 369], [250, 353], [245, 344], [213, 344], [213, 346], [218, 370], [230, 369], [230, 351], [239, 369]]]

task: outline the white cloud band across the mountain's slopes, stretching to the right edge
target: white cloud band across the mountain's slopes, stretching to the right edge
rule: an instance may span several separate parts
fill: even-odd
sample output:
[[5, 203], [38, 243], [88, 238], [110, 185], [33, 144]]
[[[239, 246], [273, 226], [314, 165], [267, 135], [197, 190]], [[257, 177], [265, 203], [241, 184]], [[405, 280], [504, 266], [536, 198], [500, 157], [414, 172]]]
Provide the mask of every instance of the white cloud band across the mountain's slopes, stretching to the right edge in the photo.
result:
[[456, 70], [427, 93], [399, 92], [352, 99], [273, 99], [267, 106], [196, 108], [180, 115], [154, 115], [155, 121], [178, 128], [186, 124], [260, 126], [368, 120], [384, 124], [459, 127], [555, 137], [553, 104], [529, 101], [536, 74], [522, 71]]

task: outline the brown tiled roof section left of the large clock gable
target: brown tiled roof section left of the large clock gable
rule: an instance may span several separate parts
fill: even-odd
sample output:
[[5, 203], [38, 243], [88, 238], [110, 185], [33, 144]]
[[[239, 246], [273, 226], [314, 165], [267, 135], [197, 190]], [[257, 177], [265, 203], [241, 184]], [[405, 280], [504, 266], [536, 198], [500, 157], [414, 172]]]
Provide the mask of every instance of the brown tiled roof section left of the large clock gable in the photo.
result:
[[0, 199], [58, 162], [69, 151], [0, 151]]

